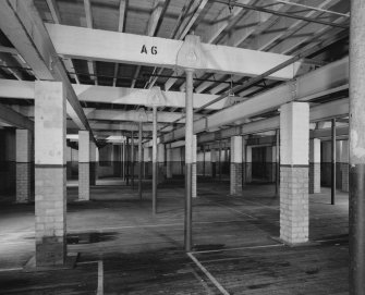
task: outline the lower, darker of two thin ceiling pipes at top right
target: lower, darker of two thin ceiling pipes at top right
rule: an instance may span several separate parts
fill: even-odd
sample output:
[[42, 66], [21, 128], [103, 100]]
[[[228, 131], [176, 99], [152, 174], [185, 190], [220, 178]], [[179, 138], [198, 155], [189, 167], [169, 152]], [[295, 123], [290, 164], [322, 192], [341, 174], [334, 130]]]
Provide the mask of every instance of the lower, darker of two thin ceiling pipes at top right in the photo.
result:
[[212, 2], [222, 3], [222, 4], [227, 4], [227, 5], [232, 5], [232, 7], [244, 8], [244, 9], [248, 9], [248, 10], [260, 11], [260, 12], [270, 13], [270, 14], [273, 14], [273, 15], [288, 17], [288, 19], [305, 21], [305, 22], [308, 22], [308, 23], [317, 23], [317, 24], [327, 25], [327, 26], [349, 28], [349, 26], [346, 26], [346, 25], [341, 25], [341, 24], [336, 24], [336, 23], [331, 23], [331, 22], [320, 21], [318, 19], [313, 19], [313, 17], [301, 16], [301, 15], [297, 15], [297, 14], [294, 14], [294, 13], [289, 14], [289, 13], [285, 13], [285, 12], [265, 9], [265, 8], [256, 7], [256, 5], [248, 5], [248, 4], [224, 1], [224, 0], [212, 0]]

